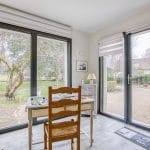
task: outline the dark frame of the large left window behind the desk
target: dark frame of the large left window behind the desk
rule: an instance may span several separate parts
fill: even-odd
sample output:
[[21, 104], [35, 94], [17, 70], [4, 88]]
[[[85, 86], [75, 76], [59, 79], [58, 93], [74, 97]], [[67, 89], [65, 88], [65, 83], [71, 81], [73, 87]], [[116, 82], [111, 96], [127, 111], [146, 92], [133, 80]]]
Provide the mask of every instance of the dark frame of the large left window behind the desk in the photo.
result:
[[[43, 36], [47, 38], [52, 38], [60, 41], [67, 42], [67, 85], [72, 86], [72, 39], [68, 37], [63, 37], [59, 35], [54, 35], [38, 30], [33, 30], [29, 28], [24, 28], [21, 26], [16, 26], [12, 24], [7, 24], [0, 22], [0, 28], [6, 29], [10, 31], [22, 32], [31, 35], [31, 80], [30, 80], [30, 95], [36, 96], [37, 95], [37, 36]], [[33, 118], [33, 124], [40, 124], [45, 122], [47, 119], [43, 119], [37, 121], [37, 118]], [[26, 128], [28, 127], [28, 123], [10, 126], [6, 128], [0, 129], [0, 134]]]

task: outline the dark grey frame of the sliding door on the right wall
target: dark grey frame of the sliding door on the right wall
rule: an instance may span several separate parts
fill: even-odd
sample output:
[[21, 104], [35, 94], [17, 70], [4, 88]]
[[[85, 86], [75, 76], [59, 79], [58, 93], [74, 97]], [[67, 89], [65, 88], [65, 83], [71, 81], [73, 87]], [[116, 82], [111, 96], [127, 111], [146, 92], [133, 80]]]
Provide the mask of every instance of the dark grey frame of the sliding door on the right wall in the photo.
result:
[[123, 32], [124, 37], [124, 119], [117, 117], [113, 114], [108, 114], [103, 112], [103, 56], [99, 57], [99, 97], [98, 97], [98, 114], [116, 119], [126, 124], [133, 125], [135, 127], [150, 131], [150, 127], [138, 124], [132, 121], [132, 84], [128, 84], [128, 76], [131, 77], [132, 74], [132, 63], [131, 63], [131, 36], [139, 32], [143, 32], [150, 29], [141, 30], [134, 33], [125, 33]]

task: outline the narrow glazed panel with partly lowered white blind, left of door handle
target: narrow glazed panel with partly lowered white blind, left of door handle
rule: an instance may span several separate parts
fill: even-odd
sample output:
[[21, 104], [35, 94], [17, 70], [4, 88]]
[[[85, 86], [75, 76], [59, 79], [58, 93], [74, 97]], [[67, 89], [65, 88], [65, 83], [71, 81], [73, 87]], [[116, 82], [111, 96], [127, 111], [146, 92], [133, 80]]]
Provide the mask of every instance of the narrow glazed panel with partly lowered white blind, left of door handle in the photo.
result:
[[[123, 37], [100, 43], [103, 76], [103, 113], [124, 118], [124, 48]], [[101, 83], [102, 83], [101, 82]]]

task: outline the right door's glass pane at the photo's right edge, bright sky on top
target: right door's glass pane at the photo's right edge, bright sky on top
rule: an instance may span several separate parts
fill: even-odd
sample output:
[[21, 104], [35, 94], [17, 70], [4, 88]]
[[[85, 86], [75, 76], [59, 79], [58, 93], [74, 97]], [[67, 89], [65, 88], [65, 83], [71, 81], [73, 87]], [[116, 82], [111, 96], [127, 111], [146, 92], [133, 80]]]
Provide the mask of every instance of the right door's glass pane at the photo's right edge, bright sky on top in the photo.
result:
[[150, 32], [132, 36], [132, 119], [150, 125]]

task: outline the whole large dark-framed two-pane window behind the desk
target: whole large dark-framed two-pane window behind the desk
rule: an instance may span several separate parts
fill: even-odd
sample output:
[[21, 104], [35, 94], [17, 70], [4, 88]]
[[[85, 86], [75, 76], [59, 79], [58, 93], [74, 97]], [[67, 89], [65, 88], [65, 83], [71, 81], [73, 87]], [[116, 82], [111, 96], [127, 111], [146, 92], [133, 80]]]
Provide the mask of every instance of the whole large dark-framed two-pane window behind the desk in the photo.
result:
[[27, 126], [29, 96], [64, 85], [71, 85], [71, 39], [0, 23], [0, 133]]

